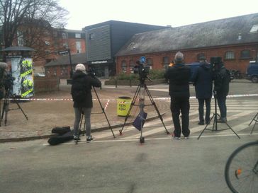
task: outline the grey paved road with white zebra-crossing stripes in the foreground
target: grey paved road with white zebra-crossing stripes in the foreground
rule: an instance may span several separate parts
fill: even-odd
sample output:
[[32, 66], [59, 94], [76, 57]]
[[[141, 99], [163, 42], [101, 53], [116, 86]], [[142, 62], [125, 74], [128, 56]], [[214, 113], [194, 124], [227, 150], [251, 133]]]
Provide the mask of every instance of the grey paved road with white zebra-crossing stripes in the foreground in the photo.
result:
[[[254, 85], [232, 85], [231, 94], [258, 93]], [[162, 90], [166, 86], [149, 88], [157, 100], [166, 98]], [[119, 89], [123, 93], [126, 88]], [[257, 113], [257, 101], [257, 97], [227, 100], [228, 124], [240, 139], [226, 124], [218, 124], [218, 131], [206, 130], [197, 140], [204, 126], [198, 126], [198, 103], [191, 100], [188, 140], [172, 140], [161, 120], [154, 119], [143, 127], [144, 144], [139, 142], [140, 132], [131, 126], [121, 136], [121, 128], [113, 129], [116, 139], [110, 130], [94, 132], [96, 140], [91, 144], [85, 139], [77, 145], [69, 141], [58, 146], [49, 146], [47, 139], [2, 143], [0, 192], [229, 193], [225, 163], [235, 148], [258, 139], [258, 128], [250, 135], [252, 125], [248, 125]], [[172, 131], [170, 112], [163, 118]]]

